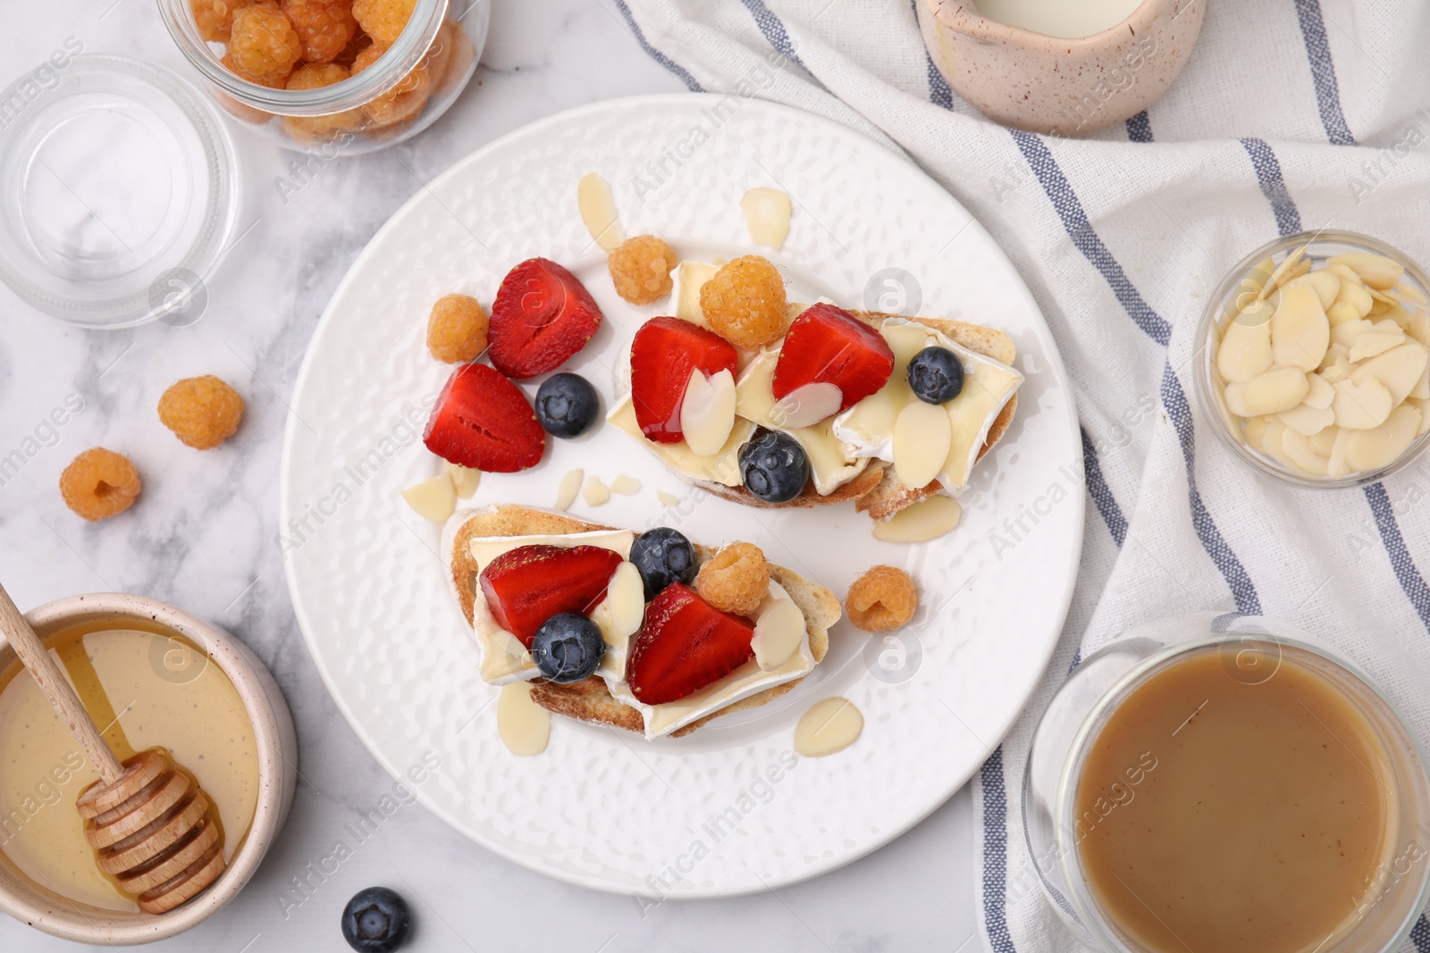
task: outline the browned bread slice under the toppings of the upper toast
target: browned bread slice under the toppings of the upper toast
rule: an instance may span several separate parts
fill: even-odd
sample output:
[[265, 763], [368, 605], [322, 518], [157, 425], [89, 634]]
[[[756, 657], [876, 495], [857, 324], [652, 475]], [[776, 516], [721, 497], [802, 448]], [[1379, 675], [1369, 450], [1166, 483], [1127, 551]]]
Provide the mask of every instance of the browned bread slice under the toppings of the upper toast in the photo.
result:
[[[918, 321], [919, 324], [931, 327], [935, 331], [944, 333], [955, 344], [961, 344], [985, 357], [992, 357], [1001, 364], [1012, 364], [1018, 356], [1018, 349], [1014, 346], [1012, 339], [992, 327], [942, 317], [905, 319], [902, 314], [888, 314], [885, 311], [849, 313], [874, 327], [879, 327], [885, 320], [894, 317]], [[980, 460], [982, 460], [984, 454], [992, 449], [992, 444], [998, 443], [998, 440], [1002, 439], [1002, 434], [1008, 431], [1017, 409], [1018, 394], [1012, 394], [1012, 397], [1008, 399], [1008, 403], [1002, 406], [998, 417], [992, 421], [992, 427], [988, 429], [988, 437], [984, 440], [984, 446], [978, 451]], [[819, 492], [814, 489], [814, 480], [809, 480], [799, 496], [788, 503], [766, 503], [742, 486], [725, 486], [724, 483], [714, 483], [711, 480], [694, 480], [692, 483], [702, 490], [721, 497], [722, 500], [766, 509], [829, 506], [832, 503], [854, 500], [854, 509], [868, 513], [869, 517], [875, 520], [894, 516], [904, 507], [912, 506], [914, 503], [918, 503], [919, 500], [934, 496], [942, 490], [938, 480], [917, 489], [904, 486], [904, 483], [894, 474], [894, 467], [882, 460], [871, 460], [869, 466], [867, 466], [857, 477], [839, 487], [835, 487], [835, 490], [827, 496], [819, 496]]]

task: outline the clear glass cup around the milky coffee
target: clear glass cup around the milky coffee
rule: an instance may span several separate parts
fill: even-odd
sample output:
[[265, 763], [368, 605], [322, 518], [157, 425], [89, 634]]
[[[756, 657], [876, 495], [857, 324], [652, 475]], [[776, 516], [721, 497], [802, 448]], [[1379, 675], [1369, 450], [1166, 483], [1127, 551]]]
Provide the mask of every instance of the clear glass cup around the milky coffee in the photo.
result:
[[[1080, 850], [1087, 827], [1078, 814], [1078, 786], [1111, 713], [1148, 679], [1195, 653], [1220, 656], [1221, 667], [1246, 686], [1266, 683], [1287, 663], [1313, 672], [1384, 752], [1383, 860], [1316, 953], [1397, 949], [1430, 900], [1430, 780], [1423, 752], [1394, 703], [1348, 662], [1283, 623], [1238, 613], [1178, 616], [1130, 630], [1090, 654], [1050, 702], [1028, 752], [1022, 817], [1030, 856], [1058, 917], [1095, 950], [1160, 953], [1118, 924], [1090, 883]], [[1154, 770], [1155, 763], [1147, 773]], [[1131, 774], [1120, 804], [1134, 803], [1138, 783], [1143, 779]]]

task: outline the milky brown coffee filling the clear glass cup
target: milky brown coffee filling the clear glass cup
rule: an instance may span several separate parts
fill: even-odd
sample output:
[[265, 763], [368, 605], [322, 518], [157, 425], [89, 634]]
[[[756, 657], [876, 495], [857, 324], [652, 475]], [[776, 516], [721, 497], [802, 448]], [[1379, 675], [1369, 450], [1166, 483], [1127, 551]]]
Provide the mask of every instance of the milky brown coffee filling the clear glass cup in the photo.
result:
[[1391, 859], [1390, 757], [1353, 697], [1274, 646], [1184, 656], [1088, 747], [1075, 810], [1091, 894], [1155, 953], [1344, 939]]

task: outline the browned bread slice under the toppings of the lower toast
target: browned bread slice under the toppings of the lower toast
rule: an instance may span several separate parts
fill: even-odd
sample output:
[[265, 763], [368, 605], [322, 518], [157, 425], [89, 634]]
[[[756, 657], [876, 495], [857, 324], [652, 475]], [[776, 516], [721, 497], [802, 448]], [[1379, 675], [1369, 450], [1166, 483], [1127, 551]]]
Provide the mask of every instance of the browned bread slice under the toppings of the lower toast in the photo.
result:
[[[528, 506], [493, 506], [485, 510], [469, 510], [458, 513], [442, 530], [442, 552], [448, 554], [452, 574], [452, 590], [456, 593], [458, 604], [468, 624], [472, 623], [472, 606], [476, 600], [476, 560], [472, 559], [470, 542], [492, 536], [535, 536], [542, 533], [568, 534], [591, 533], [601, 530], [615, 530], [613, 526], [588, 523], [565, 513], [539, 510]], [[715, 554], [716, 550], [708, 546], [695, 544], [695, 557], [699, 563]], [[842, 609], [834, 593], [812, 583], [794, 570], [784, 566], [769, 564], [769, 576], [785, 587], [789, 599], [799, 606], [805, 617], [805, 630], [809, 634], [809, 654], [815, 663], [824, 662], [829, 650], [829, 626], [839, 620]], [[726, 704], [722, 709], [691, 722], [672, 732], [672, 737], [682, 737], [706, 722], [721, 714], [758, 707], [772, 699], [779, 697], [795, 687], [804, 679], [795, 679], [758, 692], [746, 699]], [[606, 690], [606, 683], [599, 676], [591, 676], [573, 684], [556, 684], [538, 679], [532, 682], [532, 699], [549, 712], [581, 719], [582, 722], [596, 722], [628, 732], [645, 733], [645, 720], [633, 707], [618, 702]]]

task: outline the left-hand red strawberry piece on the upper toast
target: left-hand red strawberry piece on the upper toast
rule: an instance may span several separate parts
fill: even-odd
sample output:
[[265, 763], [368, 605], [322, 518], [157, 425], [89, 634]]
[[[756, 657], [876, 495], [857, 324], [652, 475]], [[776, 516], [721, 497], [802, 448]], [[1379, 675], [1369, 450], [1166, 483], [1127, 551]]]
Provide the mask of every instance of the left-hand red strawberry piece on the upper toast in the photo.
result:
[[652, 317], [631, 341], [631, 401], [641, 433], [655, 443], [679, 443], [681, 403], [691, 371], [735, 373], [735, 346], [679, 317]]

